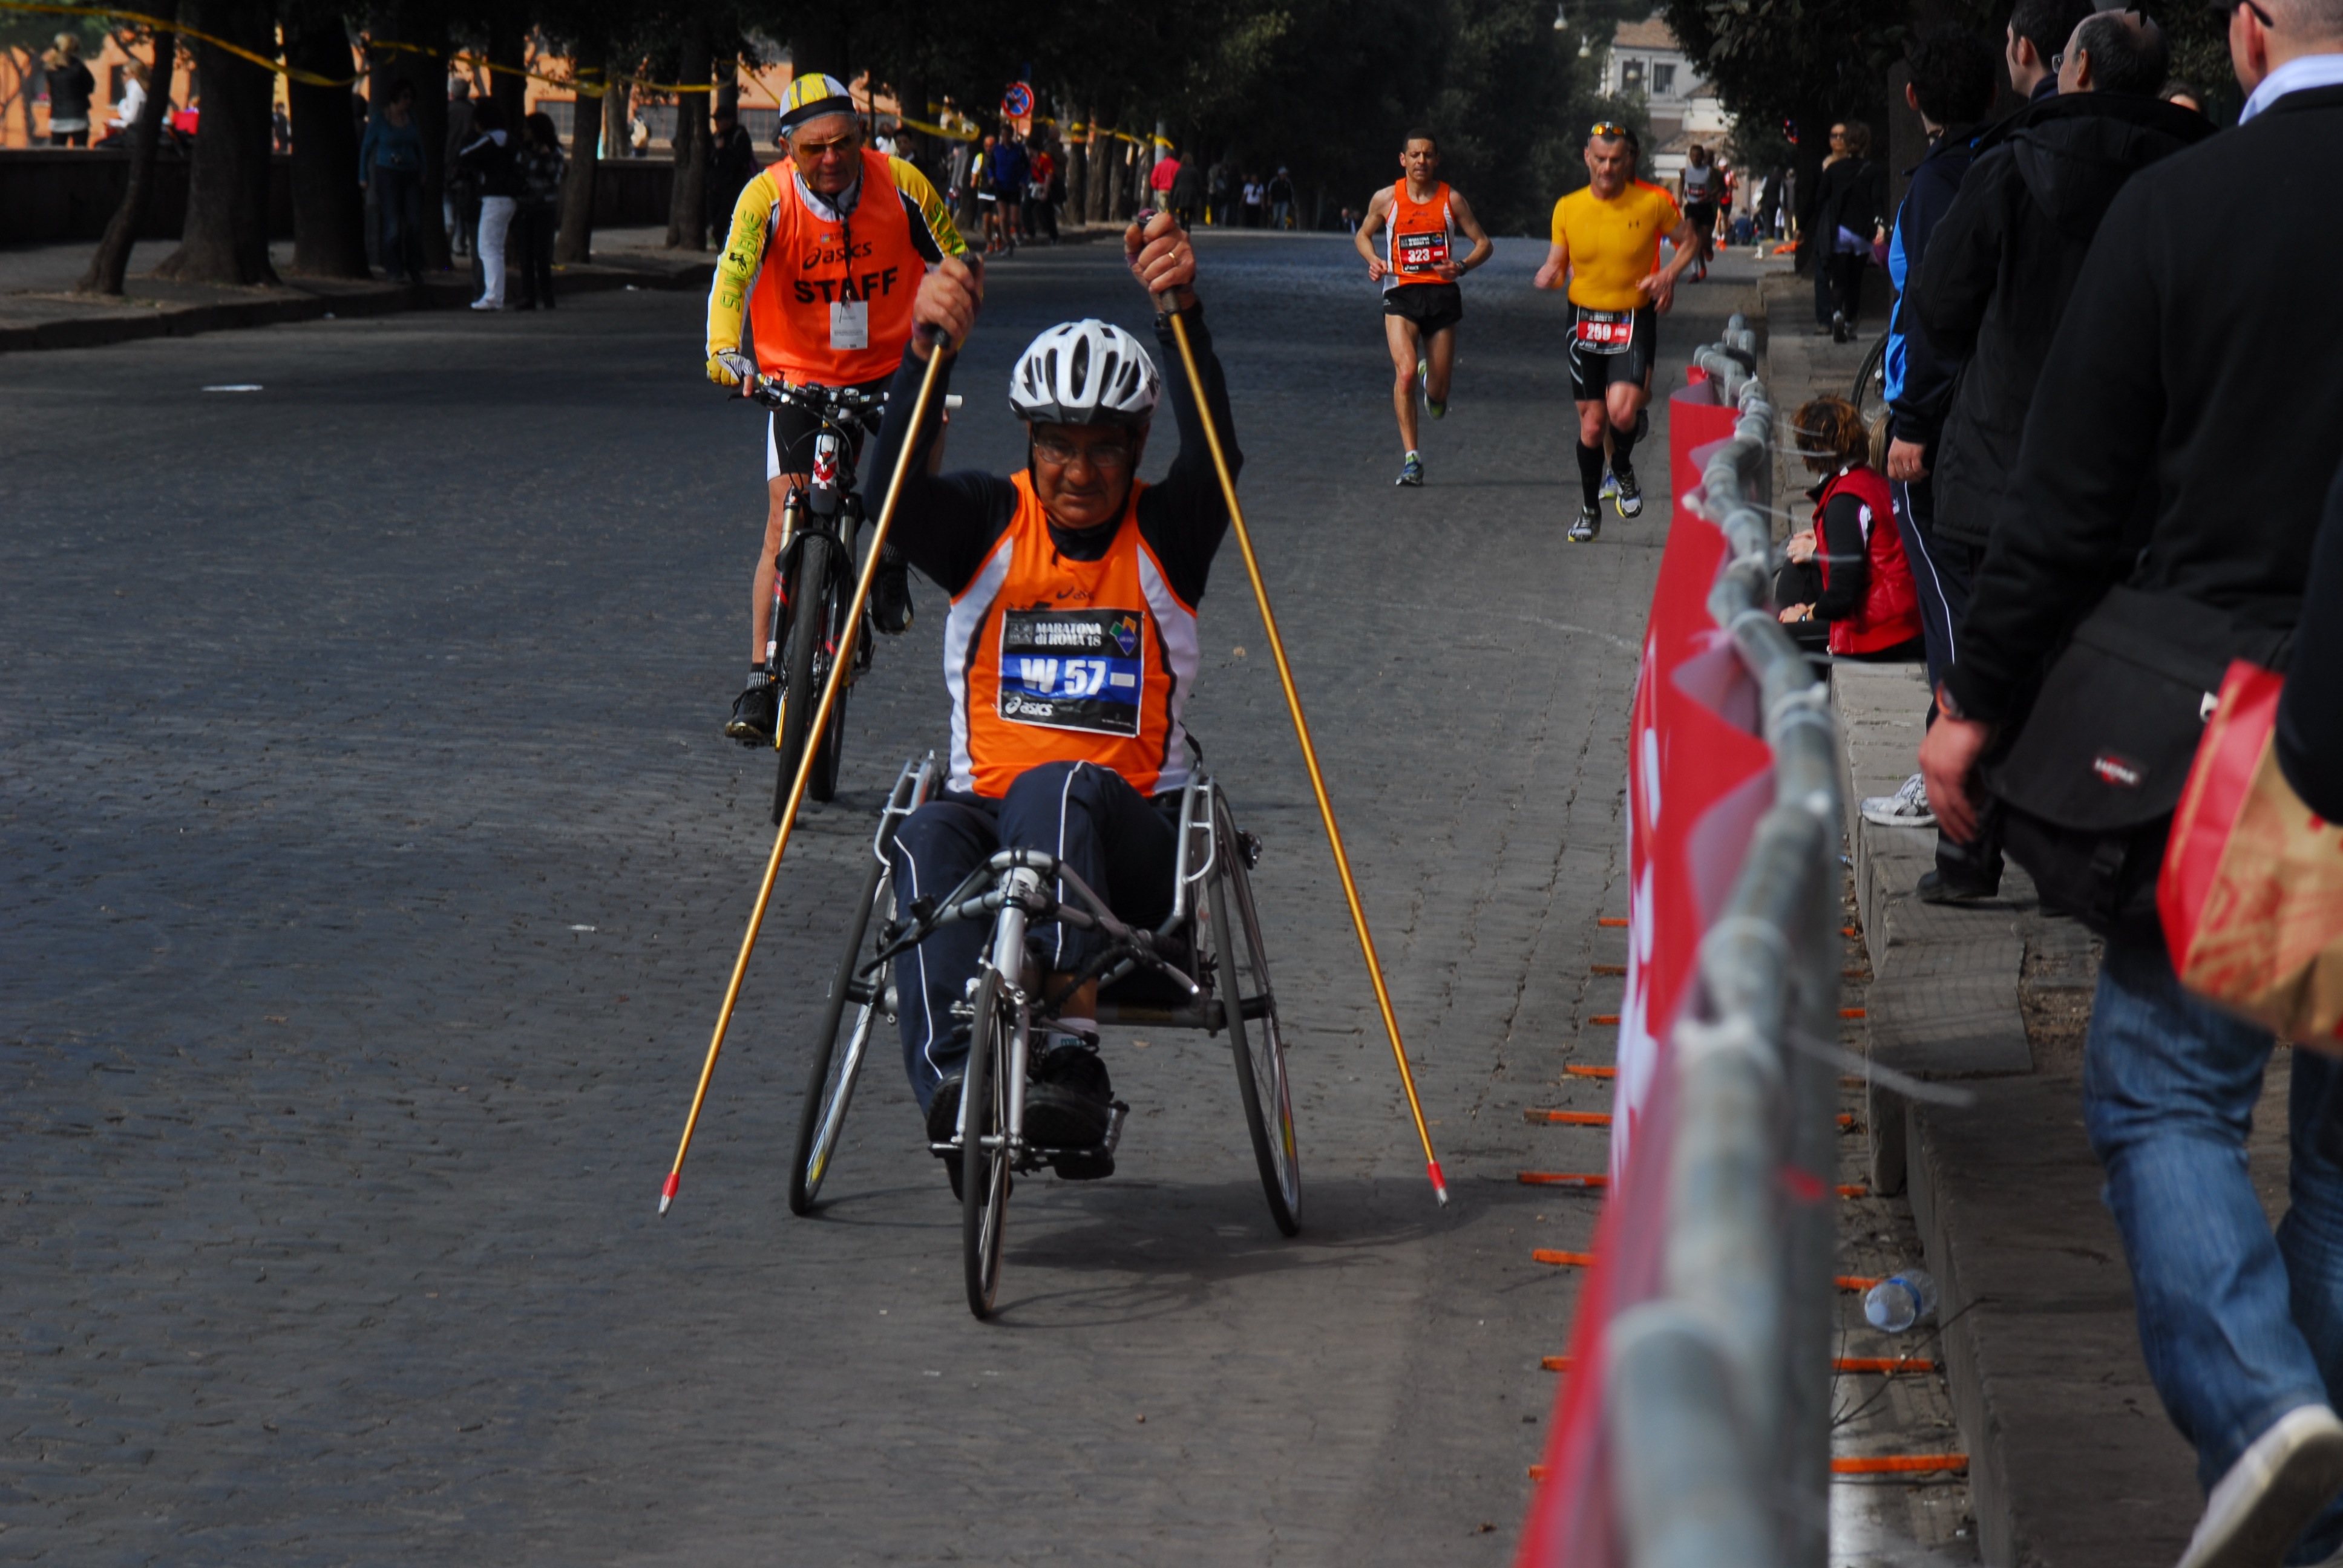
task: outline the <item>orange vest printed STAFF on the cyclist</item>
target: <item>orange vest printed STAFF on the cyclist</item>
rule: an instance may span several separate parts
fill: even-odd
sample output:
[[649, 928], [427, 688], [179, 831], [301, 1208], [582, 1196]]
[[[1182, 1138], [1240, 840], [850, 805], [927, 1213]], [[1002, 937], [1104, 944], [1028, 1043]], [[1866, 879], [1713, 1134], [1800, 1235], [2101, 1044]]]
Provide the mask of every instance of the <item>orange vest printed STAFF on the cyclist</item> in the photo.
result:
[[893, 375], [911, 340], [911, 295], [928, 263], [911, 244], [911, 213], [886, 155], [865, 148], [862, 197], [843, 223], [806, 206], [790, 159], [757, 178], [773, 185], [764, 267], [747, 305], [757, 366], [787, 382], [822, 387]]

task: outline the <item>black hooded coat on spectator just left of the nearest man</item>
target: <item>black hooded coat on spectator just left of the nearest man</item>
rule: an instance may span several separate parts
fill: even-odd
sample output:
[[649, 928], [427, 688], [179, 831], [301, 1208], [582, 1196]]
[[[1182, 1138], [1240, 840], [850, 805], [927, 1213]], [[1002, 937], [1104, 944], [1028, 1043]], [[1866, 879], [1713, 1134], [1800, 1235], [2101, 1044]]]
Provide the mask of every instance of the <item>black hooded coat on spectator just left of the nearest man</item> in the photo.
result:
[[1959, 366], [1933, 469], [1940, 537], [1992, 537], [2050, 335], [2116, 192], [2209, 134], [2158, 98], [2067, 94], [1982, 138], [1912, 291], [1928, 347]]

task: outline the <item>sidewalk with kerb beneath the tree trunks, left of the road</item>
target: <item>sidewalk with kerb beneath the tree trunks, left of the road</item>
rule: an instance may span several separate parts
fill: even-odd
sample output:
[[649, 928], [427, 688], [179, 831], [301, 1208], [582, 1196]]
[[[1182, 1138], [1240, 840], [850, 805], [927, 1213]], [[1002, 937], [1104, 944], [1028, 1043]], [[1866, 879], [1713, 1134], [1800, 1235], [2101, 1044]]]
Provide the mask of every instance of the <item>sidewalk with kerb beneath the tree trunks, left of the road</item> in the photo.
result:
[[[593, 263], [555, 267], [555, 298], [619, 288], [705, 288], [712, 251], [668, 251], [663, 230], [595, 234]], [[403, 309], [462, 309], [476, 298], [469, 263], [419, 286], [298, 277], [293, 244], [269, 246], [276, 286], [218, 288], [157, 279], [155, 267], [176, 251], [169, 239], [131, 248], [119, 300], [75, 295], [96, 244], [19, 246], [0, 251], [0, 354], [9, 349], [87, 349], [138, 338], [187, 338], [284, 321], [382, 316]]]

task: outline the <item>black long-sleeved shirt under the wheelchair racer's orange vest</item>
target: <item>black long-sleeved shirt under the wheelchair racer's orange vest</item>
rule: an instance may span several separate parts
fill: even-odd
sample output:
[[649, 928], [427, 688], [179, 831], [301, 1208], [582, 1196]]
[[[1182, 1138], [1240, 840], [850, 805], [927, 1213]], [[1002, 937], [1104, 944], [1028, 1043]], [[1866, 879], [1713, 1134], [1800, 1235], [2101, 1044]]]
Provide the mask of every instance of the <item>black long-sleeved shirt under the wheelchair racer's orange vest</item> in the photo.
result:
[[[1204, 438], [1204, 422], [1197, 417], [1195, 396], [1188, 391], [1188, 373], [1179, 363], [1179, 347], [1172, 338], [1169, 319], [1155, 321], [1160, 345], [1164, 391], [1172, 401], [1172, 417], [1179, 424], [1179, 457], [1160, 485], [1148, 485], [1139, 497], [1139, 537], [1155, 551], [1164, 567], [1164, 581], [1188, 607], [1204, 598], [1204, 581], [1211, 577], [1211, 558], [1228, 532], [1228, 502], [1221, 497], [1221, 478], [1211, 469], [1211, 445]], [[1204, 328], [1200, 309], [1188, 312], [1188, 345], [1195, 349], [1197, 370], [1204, 375], [1204, 396], [1211, 403], [1211, 420], [1221, 431], [1221, 450], [1228, 455], [1228, 471], [1244, 466], [1237, 450], [1237, 427], [1228, 413], [1228, 380], [1221, 361], [1211, 352], [1211, 333]], [[956, 473], [928, 473], [928, 448], [942, 429], [944, 391], [951, 382], [954, 363], [944, 361], [937, 373], [935, 401], [928, 422], [918, 429], [911, 448], [911, 464], [902, 476], [902, 499], [895, 502], [895, 525], [890, 544], [935, 581], [937, 588], [958, 598], [984, 558], [991, 555], [1010, 518], [1017, 516], [1017, 485], [998, 473], [961, 469]], [[909, 347], [902, 366], [888, 387], [886, 420], [872, 443], [872, 459], [865, 471], [874, 485], [886, 485], [895, 473], [895, 452], [902, 450], [911, 405], [918, 401], [918, 382], [928, 363]], [[1115, 541], [1113, 525], [1071, 530], [1050, 525], [1050, 541], [1071, 560], [1099, 560]]]

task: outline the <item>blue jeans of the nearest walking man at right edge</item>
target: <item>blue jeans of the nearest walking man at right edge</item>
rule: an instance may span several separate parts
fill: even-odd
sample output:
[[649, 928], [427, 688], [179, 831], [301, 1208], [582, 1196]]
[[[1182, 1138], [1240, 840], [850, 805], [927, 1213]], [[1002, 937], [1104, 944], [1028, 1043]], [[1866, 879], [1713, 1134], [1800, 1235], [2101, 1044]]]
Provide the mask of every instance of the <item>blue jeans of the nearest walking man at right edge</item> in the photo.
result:
[[[2083, 1123], [2106, 1167], [2165, 1413], [2214, 1491], [2249, 1446], [2343, 1388], [2343, 1059], [2296, 1050], [2287, 1216], [2247, 1174], [2270, 1031], [2181, 989], [2160, 942], [2106, 945], [2083, 1048]], [[2329, 1500], [2289, 1561], [2343, 1549]]]

